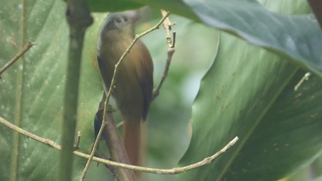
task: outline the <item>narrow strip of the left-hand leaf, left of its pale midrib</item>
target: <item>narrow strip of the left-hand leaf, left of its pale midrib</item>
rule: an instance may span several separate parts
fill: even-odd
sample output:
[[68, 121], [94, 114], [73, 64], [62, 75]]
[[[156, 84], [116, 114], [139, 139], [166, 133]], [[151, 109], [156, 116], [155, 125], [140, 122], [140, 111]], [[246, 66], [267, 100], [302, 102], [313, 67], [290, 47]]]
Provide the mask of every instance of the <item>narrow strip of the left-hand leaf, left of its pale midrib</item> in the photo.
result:
[[[2, 47], [0, 49], [0, 66], [2, 67], [6, 61], [8, 61], [13, 55], [15, 55], [22, 47], [22, 32], [16, 31], [20, 29], [22, 19], [19, 17], [22, 14], [22, 9], [18, 8], [19, 3], [12, 3], [9, 1], [2, 1], [2, 6], [7, 7], [6, 10], [2, 10], [0, 13], [0, 29], [1, 38], [0, 42]], [[15, 32], [15, 33], [14, 33]], [[20, 70], [21, 62], [17, 62], [8, 71], [16, 72]], [[14, 114], [19, 111], [19, 93], [21, 90], [20, 81], [21, 73], [12, 73], [7, 76], [5, 73], [0, 79], [0, 112], [1, 116], [9, 120], [19, 122], [19, 114]], [[19, 113], [19, 112], [18, 112]], [[5, 164], [0, 164], [0, 179], [10, 180], [10, 177], [15, 173], [16, 170], [13, 167], [16, 164], [17, 157], [14, 156], [17, 153], [15, 150], [18, 144], [14, 144], [18, 138], [18, 134], [14, 134], [13, 131], [0, 125], [0, 161]], [[14, 154], [13, 154], [14, 153]]]

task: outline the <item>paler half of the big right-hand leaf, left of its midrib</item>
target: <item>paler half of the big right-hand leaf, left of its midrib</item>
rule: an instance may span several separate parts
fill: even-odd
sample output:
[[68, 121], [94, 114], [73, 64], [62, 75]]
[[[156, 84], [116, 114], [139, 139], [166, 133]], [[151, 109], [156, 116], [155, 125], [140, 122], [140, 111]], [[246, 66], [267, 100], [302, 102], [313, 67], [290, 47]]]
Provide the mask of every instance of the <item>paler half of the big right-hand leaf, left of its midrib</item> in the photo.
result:
[[[192, 139], [180, 165], [214, 154], [234, 136], [240, 140], [214, 163], [182, 174], [182, 180], [221, 178], [231, 164], [230, 158], [239, 152], [239, 145], [247, 141], [297, 70], [278, 56], [244, 41], [226, 34], [221, 40], [225, 41], [219, 44], [193, 105]], [[231, 50], [233, 53], [229, 53]]]

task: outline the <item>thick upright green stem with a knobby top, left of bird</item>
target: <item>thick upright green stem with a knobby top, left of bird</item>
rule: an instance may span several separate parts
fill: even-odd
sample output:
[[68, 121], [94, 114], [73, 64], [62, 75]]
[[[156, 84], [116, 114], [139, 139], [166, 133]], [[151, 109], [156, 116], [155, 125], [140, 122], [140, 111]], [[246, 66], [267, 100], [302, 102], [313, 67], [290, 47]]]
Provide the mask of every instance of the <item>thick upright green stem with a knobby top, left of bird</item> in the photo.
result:
[[85, 31], [93, 23], [85, 1], [68, 2], [66, 18], [69, 24], [70, 41], [67, 63], [67, 79], [64, 95], [62, 124], [62, 152], [60, 156], [59, 180], [71, 180], [72, 151], [75, 136], [78, 103], [79, 73]]

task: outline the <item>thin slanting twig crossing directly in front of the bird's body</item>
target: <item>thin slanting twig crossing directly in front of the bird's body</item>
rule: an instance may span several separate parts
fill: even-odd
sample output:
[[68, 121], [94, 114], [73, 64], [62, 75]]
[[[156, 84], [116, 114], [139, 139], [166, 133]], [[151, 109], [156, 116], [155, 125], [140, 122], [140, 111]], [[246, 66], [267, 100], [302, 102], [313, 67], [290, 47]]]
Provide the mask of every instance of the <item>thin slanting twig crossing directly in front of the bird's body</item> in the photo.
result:
[[[106, 95], [106, 101], [105, 101], [105, 104], [104, 104], [104, 114], [103, 114], [103, 121], [102, 121], [102, 125], [101, 125], [101, 128], [100, 128], [100, 131], [98, 133], [98, 136], [95, 140], [95, 143], [94, 143], [94, 147], [92, 149], [92, 152], [91, 152], [91, 156], [90, 158], [88, 159], [87, 163], [86, 163], [86, 166], [83, 170], [83, 173], [82, 173], [82, 178], [84, 179], [85, 177], [85, 174], [88, 170], [88, 168], [90, 167], [90, 164], [91, 164], [91, 161], [94, 157], [94, 154], [95, 154], [95, 151], [97, 149], [97, 146], [98, 146], [98, 143], [99, 143], [99, 140], [101, 138], [101, 135], [103, 133], [103, 130], [104, 130], [104, 127], [106, 125], [106, 116], [107, 116], [107, 113], [106, 113], [106, 110], [107, 110], [107, 107], [108, 107], [108, 102], [110, 100], [110, 97], [111, 97], [111, 94], [113, 92], [113, 89], [114, 89], [114, 85], [115, 85], [115, 81], [116, 81], [116, 76], [117, 76], [117, 73], [118, 73], [118, 70], [119, 70], [119, 66], [120, 66], [120, 63], [122, 62], [122, 60], [125, 58], [125, 56], [130, 53], [130, 50], [132, 49], [133, 45], [136, 43], [136, 41], [141, 38], [142, 36], [152, 32], [153, 30], [156, 30], [160, 27], [160, 25], [165, 21], [165, 19], [170, 15], [170, 12], [168, 12], [166, 14], [166, 16], [164, 16], [154, 27], [146, 30], [145, 32], [143, 33], [140, 33], [138, 35], [135, 36], [134, 40], [132, 41], [132, 43], [130, 44], [130, 46], [125, 50], [125, 52], [123, 53], [123, 55], [121, 56], [121, 58], [119, 59], [119, 61], [115, 64], [115, 69], [114, 69], [114, 73], [113, 73], [113, 77], [112, 77], [112, 80], [111, 80], [111, 85], [109, 87], [109, 92], [108, 94]], [[83, 180], [81, 178], [81, 180]]]

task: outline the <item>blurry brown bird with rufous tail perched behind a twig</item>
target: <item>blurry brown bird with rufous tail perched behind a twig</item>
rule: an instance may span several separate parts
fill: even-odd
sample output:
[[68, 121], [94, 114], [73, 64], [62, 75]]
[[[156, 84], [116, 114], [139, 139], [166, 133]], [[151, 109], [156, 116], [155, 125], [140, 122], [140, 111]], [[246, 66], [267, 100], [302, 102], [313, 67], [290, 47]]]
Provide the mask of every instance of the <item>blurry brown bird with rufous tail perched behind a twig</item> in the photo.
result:
[[[97, 59], [106, 95], [111, 85], [115, 64], [135, 38], [135, 24], [139, 18], [139, 11], [110, 13], [99, 30]], [[152, 58], [146, 46], [138, 40], [120, 63], [112, 92], [124, 121], [124, 147], [133, 165], [140, 164], [140, 125], [141, 120], [146, 120], [152, 101], [152, 91]], [[102, 114], [102, 109], [97, 114]], [[96, 131], [99, 130], [97, 128], [99, 127], [96, 126]]]

